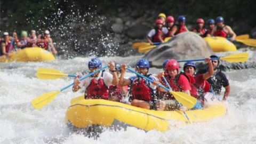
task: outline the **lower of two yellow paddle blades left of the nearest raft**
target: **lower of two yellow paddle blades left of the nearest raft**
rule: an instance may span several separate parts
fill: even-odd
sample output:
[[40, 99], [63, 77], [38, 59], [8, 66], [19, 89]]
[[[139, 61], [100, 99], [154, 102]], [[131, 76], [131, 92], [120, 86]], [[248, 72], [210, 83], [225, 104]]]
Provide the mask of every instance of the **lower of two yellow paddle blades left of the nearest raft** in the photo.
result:
[[50, 103], [56, 97], [56, 95], [59, 93], [60, 93], [60, 91], [45, 93], [45, 94], [33, 99], [31, 101], [31, 103], [35, 109], [41, 109], [42, 107], [44, 107], [48, 103]]

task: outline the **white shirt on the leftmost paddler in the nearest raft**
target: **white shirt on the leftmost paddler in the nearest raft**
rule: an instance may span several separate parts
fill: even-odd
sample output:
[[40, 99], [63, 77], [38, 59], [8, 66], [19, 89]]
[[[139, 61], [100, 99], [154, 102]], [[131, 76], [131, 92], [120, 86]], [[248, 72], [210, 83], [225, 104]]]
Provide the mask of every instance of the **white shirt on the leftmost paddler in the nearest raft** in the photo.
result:
[[[85, 89], [87, 89], [87, 86], [89, 86], [92, 79], [95, 78], [98, 81], [101, 78], [101, 75], [102, 75], [102, 71], [100, 71], [100, 74], [98, 75], [98, 77], [87, 77], [87, 78], [83, 79], [78, 86], [81, 87], [81, 88], [84, 86]], [[110, 85], [113, 85], [112, 81], [113, 81], [113, 75], [111, 75], [107, 71], [104, 71], [104, 73], [103, 73], [103, 82], [106, 84], [106, 86], [109, 87]]]

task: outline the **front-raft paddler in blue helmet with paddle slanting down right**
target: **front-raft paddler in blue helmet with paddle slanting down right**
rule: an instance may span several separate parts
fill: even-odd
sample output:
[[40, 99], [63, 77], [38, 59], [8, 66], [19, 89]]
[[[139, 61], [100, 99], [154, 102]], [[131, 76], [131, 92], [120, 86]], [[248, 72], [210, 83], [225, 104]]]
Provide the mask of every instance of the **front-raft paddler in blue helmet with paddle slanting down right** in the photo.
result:
[[146, 76], [154, 81], [151, 83], [144, 78], [139, 76], [132, 76], [129, 79], [124, 79], [124, 74], [126, 70], [126, 65], [122, 65], [121, 69], [121, 77], [119, 81], [119, 85], [131, 85], [131, 105], [135, 107], [141, 107], [145, 109], [156, 109], [156, 101], [157, 101], [157, 86], [158, 78], [155, 76], [148, 74], [149, 70], [149, 62], [146, 59], [140, 59], [136, 63], [135, 70], [143, 76]]

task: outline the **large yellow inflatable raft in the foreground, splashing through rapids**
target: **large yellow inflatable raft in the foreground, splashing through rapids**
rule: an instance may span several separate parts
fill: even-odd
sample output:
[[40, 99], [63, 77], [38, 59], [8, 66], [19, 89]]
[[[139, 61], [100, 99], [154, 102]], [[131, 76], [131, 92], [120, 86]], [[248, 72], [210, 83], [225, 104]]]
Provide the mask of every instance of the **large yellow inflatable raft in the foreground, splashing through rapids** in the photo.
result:
[[[195, 123], [225, 116], [226, 111], [222, 103], [217, 103], [204, 110], [189, 110], [186, 113], [190, 121]], [[182, 111], [147, 110], [108, 100], [82, 99], [71, 104], [66, 113], [66, 124], [76, 130], [98, 125], [123, 128], [133, 126], [145, 131], [155, 129], [164, 132], [187, 123]]]

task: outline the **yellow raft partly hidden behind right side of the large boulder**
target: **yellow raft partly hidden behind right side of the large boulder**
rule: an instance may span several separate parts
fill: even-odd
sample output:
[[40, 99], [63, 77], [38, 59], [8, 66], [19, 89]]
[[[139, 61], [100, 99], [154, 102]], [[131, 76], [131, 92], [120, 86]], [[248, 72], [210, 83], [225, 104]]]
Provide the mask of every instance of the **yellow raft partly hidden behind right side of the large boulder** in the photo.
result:
[[212, 47], [213, 52], [235, 52], [236, 46], [224, 37], [205, 37], [204, 40]]

